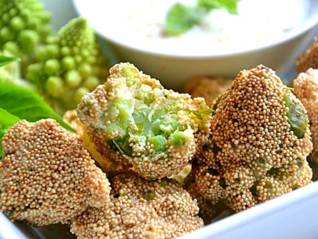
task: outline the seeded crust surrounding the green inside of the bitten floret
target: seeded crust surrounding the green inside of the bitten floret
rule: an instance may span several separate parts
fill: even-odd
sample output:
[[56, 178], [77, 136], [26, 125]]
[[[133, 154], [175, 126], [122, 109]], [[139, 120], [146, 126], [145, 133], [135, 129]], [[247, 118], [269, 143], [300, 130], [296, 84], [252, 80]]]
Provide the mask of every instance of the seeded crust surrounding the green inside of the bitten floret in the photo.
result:
[[[134, 143], [138, 139], [131, 137], [133, 148], [132, 155], [126, 155], [111, 145], [111, 140], [120, 136], [120, 132], [107, 134], [107, 123], [103, 120], [104, 114], [109, 107], [110, 102], [115, 97], [129, 98], [130, 90], [126, 85], [125, 78], [122, 76], [122, 69], [129, 68], [136, 73], [138, 80], [143, 84], [151, 86], [153, 90], [160, 89], [164, 91], [164, 97], [180, 100], [183, 109], [178, 112], [178, 118], [182, 125], [188, 125], [183, 128], [186, 141], [182, 146], [172, 145], [170, 140], [166, 141], [167, 150], [159, 154], [154, 154], [154, 145], [146, 143], [139, 145]], [[160, 104], [164, 97], [156, 98]], [[87, 102], [90, 102], [89, 105]], [[151, 78], [149, 75], [139, 72], [133, 64], [120, 63], [116, 64], [110, 70], [110, 76], [107, 82], [99, 85], [93, 92], [85, 95], [78, 105], [77, 113], [79, 119], [87, 126], [88, 135], [92, 143], [96, 145], [98, 152], [117, 164], [134, 167], [137, 174], [146, 179], [155, 179], [177, 174], [192, 159], [196, 151], [195, 134], [198, 132], [206, 133], [209, 131], [209, 122], [199, 124], [188, 116], [188, 110], [198, 110], [199, 106], [204, 103], [203, 98], [192, 99], [189, 94], [179, 94], [172, 90], [163, 89], [158, 80]], [[190, 127], [191, 125], [191, 127]]]

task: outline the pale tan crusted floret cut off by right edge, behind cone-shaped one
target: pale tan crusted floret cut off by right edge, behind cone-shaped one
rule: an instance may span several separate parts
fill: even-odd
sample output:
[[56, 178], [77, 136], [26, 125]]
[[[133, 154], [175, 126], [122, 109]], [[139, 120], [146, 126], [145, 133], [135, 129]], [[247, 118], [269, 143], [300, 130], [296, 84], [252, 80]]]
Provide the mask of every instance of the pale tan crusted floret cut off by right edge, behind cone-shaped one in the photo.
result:
[[309, 160], [318, 163], [318, 70], [308, 69], [293, 82], [294, 93], [304, 104], [310, 120], [314, 149]]

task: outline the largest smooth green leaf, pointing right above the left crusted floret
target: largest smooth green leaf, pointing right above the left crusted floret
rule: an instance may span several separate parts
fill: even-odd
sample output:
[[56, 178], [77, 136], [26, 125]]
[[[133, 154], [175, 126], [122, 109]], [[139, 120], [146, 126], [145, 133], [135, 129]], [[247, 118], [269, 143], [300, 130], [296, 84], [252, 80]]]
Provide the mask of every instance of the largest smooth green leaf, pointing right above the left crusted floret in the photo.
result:
[[[0, 107], [11, 115], [29, 122], [39, 119], [55, 119], [62, 127], [76, 132], [39, 95], [12, 83], [0, 82]], [[2, 117], [0, 114], [0, 119]]]

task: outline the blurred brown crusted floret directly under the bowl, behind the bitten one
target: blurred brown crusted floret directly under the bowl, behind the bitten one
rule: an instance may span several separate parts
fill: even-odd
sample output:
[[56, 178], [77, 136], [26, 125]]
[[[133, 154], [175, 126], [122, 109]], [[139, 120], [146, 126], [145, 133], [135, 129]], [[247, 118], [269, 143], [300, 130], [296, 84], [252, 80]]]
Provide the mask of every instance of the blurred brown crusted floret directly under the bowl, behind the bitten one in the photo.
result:
[[194, 77], [187, 82], [184, 92], [194, 97], [204, 97], [208, 106], [213, 105], [215, 100], [231, 85], [232, 80], [222, 77]]

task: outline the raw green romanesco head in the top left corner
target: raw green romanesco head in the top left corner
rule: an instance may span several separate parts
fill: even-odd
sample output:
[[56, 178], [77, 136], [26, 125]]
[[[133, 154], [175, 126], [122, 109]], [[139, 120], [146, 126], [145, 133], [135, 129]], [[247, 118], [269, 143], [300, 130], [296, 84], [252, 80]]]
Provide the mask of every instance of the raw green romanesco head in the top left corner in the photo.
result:
[[50, 13], [39, 0], [0, 1], [0, 49], [27, 60], [51, 32]]

